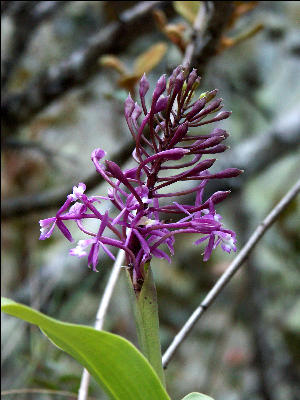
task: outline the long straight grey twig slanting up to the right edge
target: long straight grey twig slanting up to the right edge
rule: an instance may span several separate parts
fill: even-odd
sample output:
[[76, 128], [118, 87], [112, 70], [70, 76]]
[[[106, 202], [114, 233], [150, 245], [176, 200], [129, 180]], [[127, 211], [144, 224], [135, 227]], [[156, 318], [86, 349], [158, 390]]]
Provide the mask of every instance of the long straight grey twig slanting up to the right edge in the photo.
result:
[[255, 229], [253, 234], [250, 236], [248, 242], [244, 245], [242, 250], [239, 252], [237, 257], [229, 265], [226, 271], [221, 275], [213, 288], [208, 292], [205, 299], [199, 305], [198, 308], [193, 312], [187, 322], [184, 324], [179, 333], [175, 336], [171, 345], [163, 355], [163, 367], [166, 368], [170, 360], [174, 356], [178, 347], [182, 344], [187, 335], [191, 332], [196, 322], [200, 319], [204, 311], [215, 301], [218, 295], [222, 292], [224, 287], [231, 280], [233, 275], [243, 265], [244, 261], [248, 258], [255, 245], [262, 238], [264, 233], [271, 227], [271, 225], [279, 217], [280, 213], [290, 204], [290, 202], [300, 192], [300, 179], [292, 187], [292, 189], [280, 200], [280, 202], [272, 209], [268, 216], [263, 220], [261, 224]]

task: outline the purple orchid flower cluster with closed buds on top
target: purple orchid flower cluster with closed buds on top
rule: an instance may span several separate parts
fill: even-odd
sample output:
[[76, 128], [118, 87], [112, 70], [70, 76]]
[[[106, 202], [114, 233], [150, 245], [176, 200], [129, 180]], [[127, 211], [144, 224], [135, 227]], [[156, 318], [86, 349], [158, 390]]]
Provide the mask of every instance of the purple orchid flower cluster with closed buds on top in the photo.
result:
[[[137, 166], [122, 171], [112, 161], [102, 163], [106, 153], [95, 149], [91, 155], [95, 168], [111, 186], [107, 196], [88, 197], [84, 193], [84, 183], [74, 186], [73, 193], [67, 196], [56, 216], [40, 221], [40, 239], [49, 238], [56, 225], [68, 240], [73, 241], [65, 221], [75, 221], [89, 238], [79, 240], [70, 254], [78, 257], [88, 255], [88, 264], [96, 271], [100, 249], [112, 259], [115, 256], [108, 246], [123, 249], [127, 265], [132, 267], [132, 281], [136, 289], [143, 282], [144, 264], [153, 256], [170, 262], [169, 255], [161, 247], [167, 247], [173, 255], [177, 234], [201, 235], [195, 244], [207, 242], [204, 261], [219, 244], [228, 253], [236, 251], [235, 233], [223, 227], [221, 216], [215, 211], [215, 205], [224, 200], [230, 191], [218, 191], [203, 200], [204, 188], [210, 179], [236, 177], [242, 172], [228, 168], [210, 173], [209, 168], [216, 159], [203, 159], [206, 154], [221, 153], [227, 149], [221, 142], [228, 137], [228, 133], [220, 128], [213, 129], [209, 134], [190, 133], [190, 128], [223, 120], [231, 112], [217, 113], [222, 108], [222, 99], [215, 99], [216, 89], [202, 93], [192, 101], [199, 82], [195, 69], [189, 73], [178, 66], [168, 80], [165, 75], [159, 78], [151, 105], [147, 108], [145, 96], [149, 91], [149, 82], [144, 75], [139, 86], [141, 107], [130, 95], [125, 101], [125, 118], [135, 141], [132, 157]], [[174, 163], [178, 160], [181, 161]], [[179, 169], [182, 172], [173, 174], [173, 170]], [[186, 181], [197, 183], [181, 191], [162, 191], [177, 182]], [[191, 193], [196, 194], [195, 204], [175, 201]], [[115, 218], [110, 217], [108, 211], [103, 214], [98, 211], [96, 204], [102, 200], [118, 210]], [[164, 221], [162, 215], [178, 215], [179, 220]], [[99, 220], [97, 232], [84, 227], [83, 221], [88, 219]], [[107, 230], [115, 238], [104, 234]]]

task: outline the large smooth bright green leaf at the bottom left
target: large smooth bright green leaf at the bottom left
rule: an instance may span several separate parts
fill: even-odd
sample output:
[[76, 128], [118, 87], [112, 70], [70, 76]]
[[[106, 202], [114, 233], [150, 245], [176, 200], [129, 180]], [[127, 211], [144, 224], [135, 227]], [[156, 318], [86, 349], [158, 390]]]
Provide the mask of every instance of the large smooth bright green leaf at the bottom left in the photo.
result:
[[1, 310], [39, 326], [55, 345], [90, 372], [110, 398], [169, 400], [151, 365], [122, 337], [55, 320], [6, 298], [1, 298]]

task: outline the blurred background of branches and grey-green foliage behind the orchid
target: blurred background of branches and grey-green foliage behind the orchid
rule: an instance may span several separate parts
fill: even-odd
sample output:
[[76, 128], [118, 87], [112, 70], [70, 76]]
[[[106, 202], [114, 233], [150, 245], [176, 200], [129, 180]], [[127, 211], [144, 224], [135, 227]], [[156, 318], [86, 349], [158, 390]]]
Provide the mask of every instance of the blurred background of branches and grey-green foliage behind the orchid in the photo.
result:
[[[91, 272], [86, 259], [68, 255], [72, 245], [58, 232], [39, 241], [38, 221], [53, 216], [78, 182], [104, 195], [94, 148], [131, 165], [124, 100], [144, 71], [153, 88], [182, 62], [199, 6], [206, 10], [193, 58], [200, 92], [218, 88], [233, 111], [220, 123], [231, 150], [218, 169], [245, 169], [217, 183], [232, 190], [218, 212], [238, 249], [299, 178], [299, 2], [1, 1], [3, 296], [93, 325], [111, 260], [103, 256], [99, 273]], [[172, 399], [192, 391], [216, 400], [300, 398], [299, 203], [181, 346], [166, 371]], [[194, 240], [177, 238], [171, 265], [153, 260], [163, 350], [234, 258], [218, 249], [204, 263]], [[78, 391], [76, 361], [37, 328], [6, 315], [2, 322], [2, 390], [20, 389], [3, 398]], [[122, 277], [105, 329], [136, 343]], [[52, 393], [21, 390], [28, 388]], [[90, 396], [107, 398], [93, 380]]]

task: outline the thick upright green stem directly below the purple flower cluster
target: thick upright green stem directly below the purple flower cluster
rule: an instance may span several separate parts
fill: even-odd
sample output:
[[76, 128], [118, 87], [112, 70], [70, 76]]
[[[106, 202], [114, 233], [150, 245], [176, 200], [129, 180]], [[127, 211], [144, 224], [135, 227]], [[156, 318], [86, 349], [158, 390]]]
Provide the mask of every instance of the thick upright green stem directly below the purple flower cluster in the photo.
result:
[[133, 304], [135, 324], [140, 349], [165, 385], [164, 370], [159, 337], [159, 319], [155, 283], [150, 264], [145, 265], [145, 279], [142, 289], [135, 293], [129, 272], [129, 292]]

